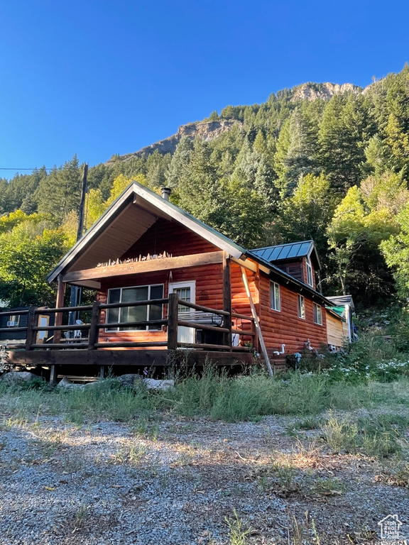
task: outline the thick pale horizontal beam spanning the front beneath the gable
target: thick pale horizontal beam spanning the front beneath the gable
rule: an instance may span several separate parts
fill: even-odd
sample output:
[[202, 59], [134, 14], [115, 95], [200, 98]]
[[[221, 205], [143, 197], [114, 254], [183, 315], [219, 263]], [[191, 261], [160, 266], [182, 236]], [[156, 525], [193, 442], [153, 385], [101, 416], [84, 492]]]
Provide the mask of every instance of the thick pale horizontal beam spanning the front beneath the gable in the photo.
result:
[[142, 272], [198, 267], [200, 265], [212, 265], [213, 263], [223, 263], [223, 252], [193, 253], [192, 255], [181, 255], [178, 258], [151, 259], [122, 265], [74, 270], [67, 272], [63, 281], [78, 282], [80, 280], [110, 278], [114, 276], [138, 275]]

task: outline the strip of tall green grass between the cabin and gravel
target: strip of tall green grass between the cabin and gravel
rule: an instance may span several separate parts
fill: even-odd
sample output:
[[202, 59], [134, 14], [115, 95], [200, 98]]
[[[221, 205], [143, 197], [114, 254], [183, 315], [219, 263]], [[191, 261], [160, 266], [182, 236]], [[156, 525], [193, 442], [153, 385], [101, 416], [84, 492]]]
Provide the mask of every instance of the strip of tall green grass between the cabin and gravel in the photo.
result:
[[143, 386], [121, 390], [110, 380], [84, 390], [24, 390], [0, 382], [0, 414], [20, 418], [30, 413], [60, 414], [68, 422], [82, 424], [101, 419], [130, 422], [167, 410], [234, 422], [268, 414], [303, 416], [326, 409], [408, 406], [408, 384], [405, 378], [388, 384], [347, 384], [332, 382], [320, 374], [301, 373], [292, 373], [286, 380], [257, 373], [228, 377], [214, 368], [208, 368], [201, 377], [191, 375], [181, 380], [175, 390], [167, 392], [150, 392]]

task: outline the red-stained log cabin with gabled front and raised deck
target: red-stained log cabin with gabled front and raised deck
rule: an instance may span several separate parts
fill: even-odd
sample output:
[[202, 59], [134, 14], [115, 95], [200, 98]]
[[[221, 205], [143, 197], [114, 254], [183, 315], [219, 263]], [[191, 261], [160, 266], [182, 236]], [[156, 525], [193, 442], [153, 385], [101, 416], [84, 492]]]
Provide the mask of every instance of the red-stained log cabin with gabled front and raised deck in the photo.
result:
[[[270, 367], [286, 354], [327, 345], [325, 308], [333, 305], [316, 289], [320, 261], [312, 241], [250, 251], [169, 194], [131, 183], [50, 272], [48, 282], [58, 283], [54, 339], [46, 356], [28, 339], [31, 363], [40, 351], [52, 365], [72, 363], [70, 357], [163, 365], [169, 351], [188, 348], [195, 362], [249, 363], [255, 351]], [[62, 323], [67, 285], [96, 290], [92, 306], [72, 309], [91, 312], [88, 324]], [[84, 331], [75, 344], [61, 336], [72, 329]], [[62, 341], [70, 345], [53, 350]]]

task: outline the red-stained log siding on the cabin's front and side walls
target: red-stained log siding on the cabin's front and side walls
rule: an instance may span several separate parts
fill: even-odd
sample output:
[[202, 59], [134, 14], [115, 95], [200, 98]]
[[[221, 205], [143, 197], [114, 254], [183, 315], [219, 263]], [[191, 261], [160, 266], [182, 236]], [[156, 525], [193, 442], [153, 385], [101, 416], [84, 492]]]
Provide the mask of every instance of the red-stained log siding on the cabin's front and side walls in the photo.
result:
[[[173, 221], [158, 219], [146, 233], [121, 258], [134, 258], [138, 255], [163, 253], [164, 251], [177, 257], [195, 253], [217, 251], [218, 248], [207, 242], [185, 227]], [[303, 263], [294, 263], [302, 271]], [[304, 265], [305, 266], [305, 265]], [[322, 326], [314, 324], [312, 300], [305, 297], [305, 320], [298, 318], [297, 293], [280, 285], [281, 311], [276, 312], [270, 307], [270, 279], [263, 272], [246, 270], [249, 280], [251, 296], [256, 305], [256, 311], [261, 320], [261, 331], [270, 354], [280, 351], [281, 344], [285, 343], [285, 352], [294, 353], [305, 346], [310, 339], [314, 348], [320, 348], [322, 343], [327, 344], [326, 312], [322, 307]], [[141, 285], [163, 284], [163, 297], [168, 297], [169, 282], [196, 282], [196, 303], [214, 309], [223, 308], [223, 268], [222, 264], [201, 265], [185, 269], [163, 270], [141, 275], [133, 274], [124, 277], [115, 277], [102, 281], [98, 293], [99, 302], [107, 302], [107, 292], [114, 287], [132, 287]], [[244, 290], [241, 268], [231, 263], [231, 308], [233, 312], [251, 316], [249, 300]], [[166, 316], [167, 309], [164, 309]], [[105, 319], [104, 312], [101, 316]], [[241, 319], [233, 320], [234, 329], [251, 330], [251, 323]], [[137, 340], [163, 341], [166, 338], [165, 327], [160, 331], [104, 331], [100, 330], [101, 341]], [[250, 336], [244, 337], [244, 342], [253, 341]], [[257, 346], [257, 341], [255, 341]]]

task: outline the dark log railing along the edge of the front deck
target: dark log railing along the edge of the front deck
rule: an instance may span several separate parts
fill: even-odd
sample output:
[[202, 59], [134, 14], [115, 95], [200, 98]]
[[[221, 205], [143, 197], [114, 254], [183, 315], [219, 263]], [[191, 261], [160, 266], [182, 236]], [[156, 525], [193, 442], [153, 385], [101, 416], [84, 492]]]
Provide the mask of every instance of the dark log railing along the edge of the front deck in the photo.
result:
[[[152, 304], [167, 305], [168, 316], [167, 318], [157, 320], [146, 321], [118, 321], [110, 322], [101, 321], [102, 310], [107, 309], [121, 309], [124, 307], [148, 307]], [[195, 321], [195, 319], [180, 319], [179, 305], [188, 307], [196, 311], [209, 313], [211, 315], [220, 316], [221, 323], [223, 325], [210, 325]], [[39, 315], [53, 315], [55, 316], [55, 322], [62, 321], [62, 314], [68, 312], [91, 312], [91, 319], [88, 324], [61, 324], [61, 325], [38, 325]], [[9, 343], [7, 348], [25, 348], [27, 351], [31, 350], [50, 350], [50, 349], [76, 349], [76, 350], [98, 350], [101, 348], [156, 348], [163, 347], [168, 350], [176, 350], [178, 348], [194, 348], [195, 350], [201, 349], [206, 351], [249, 351], [249, 346], [233, 346], [231, 342], [232, 335], [236, 334], [239, 337], [254, 338], [256, 333], [254, 331], [254, 321], [252, 316], [246, 316], [245, 314], [237, 314], [236, 312], [227, 312], [219, 309], [212, 309], [209, 307], [203, 307], [200, 304], [194, 304], [179, 299], [178, 294], [169, 294], [169, 297], [162, 299], [149, 299], [147, 301], [133, 301], [122, 303], [99, 303], [94, 302], [92, 305], [82, 305], [80, 307], [62, 307], [55, 309], [36, 308], [30, 307], [26, 310], [18, 311], [4, 311], [0, 312], [1, 316], [27, 316], [27, 326], [24, 327], [2, 327], [2, 332], [25, 332], [26, 343], [15, 344]], [[245, 329], [233, 329], [232, 320], [240, 319], [249, 321], [249, 330]], [[99, 331], [101, 329], [111, 329], [120, 327], [148, 327], [148, 326], [166, 326], [167, 338], [163, 341], [101, 341], [99, 338]], [[220, 343], [181, 343], [178, 341], [178, 327], [187, 327], [191, 329], [201, 329], [202, 331], [213, 331], [217, 334], [221, 334], [223, 341]], [[52, 338], [44, 339], [43, 342], [37, 341], [39, 331], [52, 331], [54, 335]], [[63, 331], [79, 331], [80, 338], [61, 338]], [[149, 330], [147, 330], [149, 331]], [[1, 344], [1, 340], [0, 340]]]

